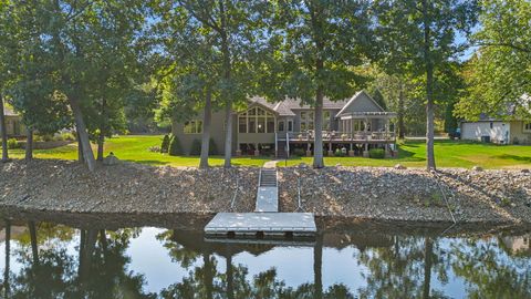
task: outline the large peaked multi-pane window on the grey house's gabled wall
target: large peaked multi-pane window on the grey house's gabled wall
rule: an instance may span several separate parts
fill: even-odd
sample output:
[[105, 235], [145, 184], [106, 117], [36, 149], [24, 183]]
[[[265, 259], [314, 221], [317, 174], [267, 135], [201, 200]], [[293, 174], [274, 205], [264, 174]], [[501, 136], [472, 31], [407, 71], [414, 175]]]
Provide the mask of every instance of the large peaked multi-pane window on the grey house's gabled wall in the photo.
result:
[[238, 132], [274, 133], [275, 122], [272, 113], [261, 107], [252, 107], [238, 116]]

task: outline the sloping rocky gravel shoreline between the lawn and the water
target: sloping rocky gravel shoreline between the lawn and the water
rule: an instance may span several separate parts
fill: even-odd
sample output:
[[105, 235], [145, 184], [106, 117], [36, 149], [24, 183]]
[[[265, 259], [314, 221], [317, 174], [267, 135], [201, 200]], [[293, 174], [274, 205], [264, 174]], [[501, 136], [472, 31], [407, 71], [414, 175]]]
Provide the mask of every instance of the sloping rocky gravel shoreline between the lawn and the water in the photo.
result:
[[[202, 171], [125, 162], [100, 165], [90, 174], [75, 162], [13, 161], [0, 164], [0, 207], [110, 214], [252, 212], [258, 175], [256, 167]], [[451, 223], [454, 215], [458, 223], [531, 224], [531, 174], [441, 169], [437, 176], [424, 169], [279, 168], [280, 207], [324, 217]]]

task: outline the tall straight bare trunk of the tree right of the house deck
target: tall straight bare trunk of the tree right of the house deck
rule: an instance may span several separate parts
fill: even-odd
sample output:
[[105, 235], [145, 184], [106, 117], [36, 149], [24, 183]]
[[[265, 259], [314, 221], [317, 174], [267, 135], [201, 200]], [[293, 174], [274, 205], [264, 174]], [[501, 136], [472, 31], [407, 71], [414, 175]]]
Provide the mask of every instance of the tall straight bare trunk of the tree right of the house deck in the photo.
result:
[[434, 64], [431, 62], [431, 31], [427, 0], [423, 0], [424, 14], [424, 60], [426, 65], [426, 168], [436, 169], [434, 150]]

